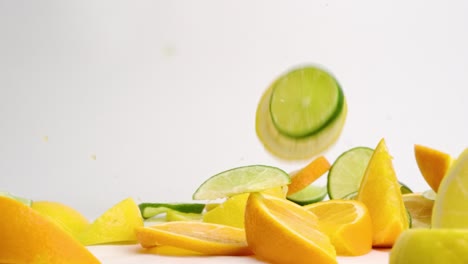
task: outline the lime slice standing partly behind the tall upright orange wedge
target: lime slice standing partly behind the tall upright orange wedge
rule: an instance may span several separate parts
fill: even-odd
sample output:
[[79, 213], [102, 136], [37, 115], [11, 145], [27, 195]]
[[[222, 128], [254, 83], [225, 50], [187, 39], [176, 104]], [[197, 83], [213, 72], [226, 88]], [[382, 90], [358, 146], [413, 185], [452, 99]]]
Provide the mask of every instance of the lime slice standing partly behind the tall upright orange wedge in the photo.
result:
[[327, 188], [330, 199], [340, 199], [359, 190], [373, 152], [368, 147], [354, 147], [335, 160], [328, 172]]

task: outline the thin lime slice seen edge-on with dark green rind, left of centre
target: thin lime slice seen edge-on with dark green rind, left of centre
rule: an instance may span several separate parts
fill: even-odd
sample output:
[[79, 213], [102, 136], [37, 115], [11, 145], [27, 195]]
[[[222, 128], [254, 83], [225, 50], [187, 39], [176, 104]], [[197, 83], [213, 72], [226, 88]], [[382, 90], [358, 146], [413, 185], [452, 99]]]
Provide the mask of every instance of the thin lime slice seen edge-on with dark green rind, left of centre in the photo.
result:
[[181, 213], [200, 214], [205, 209], [205, 204], [202, 203], [141, 203], [138, 205], [141, 216], [148, 219], [162, 213], [167, 213], [169, 210], [178, 211]]

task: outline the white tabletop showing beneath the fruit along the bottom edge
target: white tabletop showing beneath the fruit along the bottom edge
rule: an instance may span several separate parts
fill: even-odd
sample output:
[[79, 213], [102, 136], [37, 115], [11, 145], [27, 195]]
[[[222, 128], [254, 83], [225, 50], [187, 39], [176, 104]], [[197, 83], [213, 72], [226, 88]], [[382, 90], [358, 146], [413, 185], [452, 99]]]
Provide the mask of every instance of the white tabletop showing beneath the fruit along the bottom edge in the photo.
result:
[[[145, 253], [138, 245], [126, 246], [92, 246], [90, 251], [102, 261], [103, 264], [126, 264], [126, 263], [170, 263], [170, 264], [210, 264], [210, 263], [265, 263], [253, 256], [246, 257], [174, 257], [161, 256]], [[388, 263], [388, 252], [373, 250], [369, 254], [357, 257], [338, 257], [339, 264], [375, 264]]]

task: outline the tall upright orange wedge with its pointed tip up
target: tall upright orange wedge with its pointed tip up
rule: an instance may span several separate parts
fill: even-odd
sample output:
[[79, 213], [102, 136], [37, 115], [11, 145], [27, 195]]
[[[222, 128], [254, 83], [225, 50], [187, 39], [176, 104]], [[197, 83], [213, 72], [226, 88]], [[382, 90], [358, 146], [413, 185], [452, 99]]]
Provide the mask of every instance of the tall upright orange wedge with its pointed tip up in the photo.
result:
[[380, 140], [369, 160], [357, 200], [367, 206], [371, 215], [373, 246], [391, 247], [409, 228], [400, 184], [384, 139]]

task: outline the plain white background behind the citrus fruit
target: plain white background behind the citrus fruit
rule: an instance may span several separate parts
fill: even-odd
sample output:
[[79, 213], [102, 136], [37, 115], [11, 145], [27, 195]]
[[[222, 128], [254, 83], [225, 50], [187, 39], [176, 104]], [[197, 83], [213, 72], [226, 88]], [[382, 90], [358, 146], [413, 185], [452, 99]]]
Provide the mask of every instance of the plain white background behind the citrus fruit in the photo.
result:
[[235, 166], [297, 169], [263, 149], [255, 111], [279, 74], [314, 63], [349, 105], [329, 160], [385, 138], [399, 179], [424, 191], [414, 144], [467, 146], [467, 14], [466, 1], [0, 0], [0, 190], [92, 218], [129, 196], [191, 201]]

